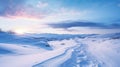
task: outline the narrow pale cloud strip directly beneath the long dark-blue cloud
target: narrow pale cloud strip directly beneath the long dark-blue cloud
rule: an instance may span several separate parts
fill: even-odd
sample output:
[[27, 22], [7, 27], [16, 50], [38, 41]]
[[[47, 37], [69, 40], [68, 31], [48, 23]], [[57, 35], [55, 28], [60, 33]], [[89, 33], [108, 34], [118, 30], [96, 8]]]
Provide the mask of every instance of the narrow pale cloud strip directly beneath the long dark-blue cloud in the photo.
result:
[[66, 29], [69, 33], [77, 34], [106, 34], [106, 33], [118, 33], [120, 29], [101, 29], [101, 28], [88, 28], [88, 27], [72, 27]]

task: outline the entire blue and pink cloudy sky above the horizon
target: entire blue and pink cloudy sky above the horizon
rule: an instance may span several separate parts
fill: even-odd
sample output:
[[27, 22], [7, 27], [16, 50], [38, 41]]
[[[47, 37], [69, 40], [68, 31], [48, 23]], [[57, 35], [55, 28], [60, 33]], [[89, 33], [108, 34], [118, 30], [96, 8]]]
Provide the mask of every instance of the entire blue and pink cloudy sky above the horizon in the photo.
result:
[[120, 32], [120, 0], [0, 0], [0, 28], [21, 33]]

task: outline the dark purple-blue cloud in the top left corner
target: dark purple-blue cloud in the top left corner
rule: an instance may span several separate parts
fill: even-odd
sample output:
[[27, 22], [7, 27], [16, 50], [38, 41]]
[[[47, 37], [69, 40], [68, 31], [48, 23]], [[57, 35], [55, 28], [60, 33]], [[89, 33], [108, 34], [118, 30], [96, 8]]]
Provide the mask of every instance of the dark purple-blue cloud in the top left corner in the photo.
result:
[[25, 0], [0, 0], [0, 15], [14, 15], [24, 5]]

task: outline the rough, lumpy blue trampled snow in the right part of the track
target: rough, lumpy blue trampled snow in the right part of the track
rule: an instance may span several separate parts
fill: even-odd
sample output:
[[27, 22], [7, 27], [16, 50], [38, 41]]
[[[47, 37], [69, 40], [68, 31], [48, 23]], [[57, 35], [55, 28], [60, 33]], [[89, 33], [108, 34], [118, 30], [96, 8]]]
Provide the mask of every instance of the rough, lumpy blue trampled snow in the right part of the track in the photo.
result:
[[77, 41], [72, 57], [60, 67], [101, 67], [101, 63], [87, 52], [87, 45]]

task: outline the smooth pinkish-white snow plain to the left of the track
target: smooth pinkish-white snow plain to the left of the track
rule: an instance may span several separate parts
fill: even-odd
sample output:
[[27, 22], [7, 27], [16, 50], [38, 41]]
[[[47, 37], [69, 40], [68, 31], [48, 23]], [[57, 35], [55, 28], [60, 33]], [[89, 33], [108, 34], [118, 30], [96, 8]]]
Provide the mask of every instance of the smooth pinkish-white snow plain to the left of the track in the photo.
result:
[[[55, 43], [55, 44], [54, 44]], [[64, 45], [61, 45], [64, 43]], [[50, 42], [54, 50], [44, 50], [30, 45], [0, 44], [3, 49], [9, 49], [13, 54], [0, 54], [1, 67], [32, 67], [35, 64], [61, 55], [66, 49], [76, 45], [74, 40]]]

